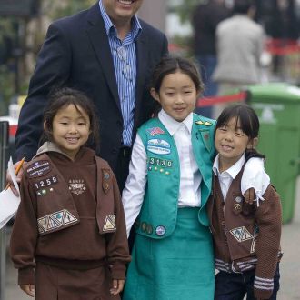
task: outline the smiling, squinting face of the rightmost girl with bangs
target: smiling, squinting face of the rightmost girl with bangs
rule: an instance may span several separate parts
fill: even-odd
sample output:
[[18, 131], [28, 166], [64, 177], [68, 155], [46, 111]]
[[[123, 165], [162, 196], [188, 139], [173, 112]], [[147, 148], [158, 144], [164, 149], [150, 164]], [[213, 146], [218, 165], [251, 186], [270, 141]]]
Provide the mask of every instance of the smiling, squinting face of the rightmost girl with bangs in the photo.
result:
[[[236, 122], [237, 121], [237, 122]], [[249, 139], [241, 129], [240, 121], [236, 117], [220, 126], [215, 131], [215, 149], [219, 153], [220, 169], [228, 169], [244, 154], [247, 147], [254, 146], [254, 139]]]

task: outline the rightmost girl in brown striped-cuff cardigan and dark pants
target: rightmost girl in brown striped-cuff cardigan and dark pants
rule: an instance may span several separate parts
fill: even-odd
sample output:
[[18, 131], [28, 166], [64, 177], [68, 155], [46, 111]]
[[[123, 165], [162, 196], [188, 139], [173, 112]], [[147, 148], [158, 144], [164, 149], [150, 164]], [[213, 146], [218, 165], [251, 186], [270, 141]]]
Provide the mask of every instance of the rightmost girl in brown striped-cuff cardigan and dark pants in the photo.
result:
[[215, 126], [214, 194], [208, 215], [215, 244], [215, 299], [276, 299], [279, 289], [282, 212], [279, 195], [266, 185], [264, 198], [245, 203], [240, 181], [255, 151], [259, 121], [247, 105], [232, 105]]

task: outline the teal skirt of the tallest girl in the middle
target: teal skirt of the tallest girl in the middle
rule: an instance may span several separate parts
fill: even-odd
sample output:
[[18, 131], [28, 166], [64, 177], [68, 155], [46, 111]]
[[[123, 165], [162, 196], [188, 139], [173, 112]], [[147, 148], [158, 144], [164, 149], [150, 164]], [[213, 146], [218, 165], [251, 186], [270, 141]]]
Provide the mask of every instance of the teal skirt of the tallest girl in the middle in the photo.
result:
[[175, 231], [163, 239], [135, 236], [124, 300], [213, 300], [214, 253], [199, 208], [179, 208]]

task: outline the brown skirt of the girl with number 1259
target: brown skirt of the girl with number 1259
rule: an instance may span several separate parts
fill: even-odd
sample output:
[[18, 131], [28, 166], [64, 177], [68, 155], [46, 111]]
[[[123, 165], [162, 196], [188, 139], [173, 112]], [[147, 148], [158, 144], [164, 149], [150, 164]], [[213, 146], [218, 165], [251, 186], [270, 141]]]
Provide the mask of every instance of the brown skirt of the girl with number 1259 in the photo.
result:
[[36, 300], [118, 300], [110, 295], [112, 279], [108, 270], [65, 270], [37, 262], [35, 267]]

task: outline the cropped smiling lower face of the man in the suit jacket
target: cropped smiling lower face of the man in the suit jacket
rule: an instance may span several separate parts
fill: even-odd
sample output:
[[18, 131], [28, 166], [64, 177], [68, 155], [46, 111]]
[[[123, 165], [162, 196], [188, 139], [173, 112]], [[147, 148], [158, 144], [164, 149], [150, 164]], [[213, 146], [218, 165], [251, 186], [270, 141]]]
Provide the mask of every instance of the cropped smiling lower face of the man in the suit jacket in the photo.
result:
[[130, 22], [143, 4], [143, 0], [102, 0], [107, 15], [115, 24]]

